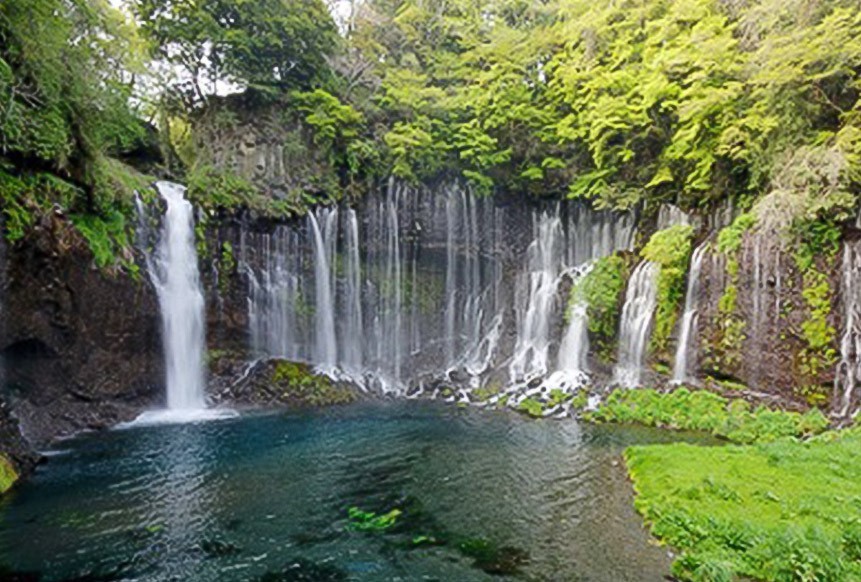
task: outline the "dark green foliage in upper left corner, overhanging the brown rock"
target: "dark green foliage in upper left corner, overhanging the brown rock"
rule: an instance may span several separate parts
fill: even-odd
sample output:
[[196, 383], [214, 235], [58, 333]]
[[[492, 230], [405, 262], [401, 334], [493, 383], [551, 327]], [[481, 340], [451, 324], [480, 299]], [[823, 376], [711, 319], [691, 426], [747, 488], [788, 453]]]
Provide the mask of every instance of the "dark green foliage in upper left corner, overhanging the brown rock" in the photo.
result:
[[128, 79], [141, 69], [133, 26], [107, 3], [0, 6], [0, 201], [22, 237], [57, 204], [112, 220], [126, 173], [108, 160], [138, 147]]

